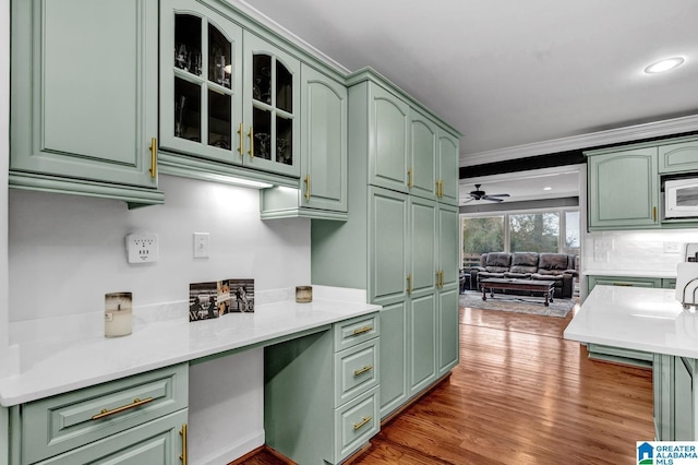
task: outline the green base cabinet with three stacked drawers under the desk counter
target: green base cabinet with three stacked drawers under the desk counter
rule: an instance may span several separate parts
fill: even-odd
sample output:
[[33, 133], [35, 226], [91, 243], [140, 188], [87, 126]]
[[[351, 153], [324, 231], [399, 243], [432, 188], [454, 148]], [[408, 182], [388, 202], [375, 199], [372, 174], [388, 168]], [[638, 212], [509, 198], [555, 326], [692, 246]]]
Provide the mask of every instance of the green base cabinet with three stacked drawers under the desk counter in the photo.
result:
[[338, 464], [381, 428], [382, 322], [358, 317], [264, 351], [266, 443], [300, 464]]

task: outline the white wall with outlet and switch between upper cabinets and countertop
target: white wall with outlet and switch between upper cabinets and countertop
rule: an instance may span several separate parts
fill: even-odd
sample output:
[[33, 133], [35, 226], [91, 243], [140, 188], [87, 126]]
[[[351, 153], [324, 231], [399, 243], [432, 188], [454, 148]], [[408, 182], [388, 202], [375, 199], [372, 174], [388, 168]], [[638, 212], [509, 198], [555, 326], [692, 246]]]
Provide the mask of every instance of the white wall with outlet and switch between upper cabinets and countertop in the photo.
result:
[[[127, 210], [103, 199], [10, 191], [10, 321], [104, 310], [106, 293], [134, 307], [181, 301], [189, 284], [252, 277], [257, 290], [310, 283], [310, 220], [260, 219], [255, 190], [161, 176], [166, 204]], [[125, 236], [158, 235], [156, 263], [129, 264]], [[210, 258], [193, 258], [193, 233]]]

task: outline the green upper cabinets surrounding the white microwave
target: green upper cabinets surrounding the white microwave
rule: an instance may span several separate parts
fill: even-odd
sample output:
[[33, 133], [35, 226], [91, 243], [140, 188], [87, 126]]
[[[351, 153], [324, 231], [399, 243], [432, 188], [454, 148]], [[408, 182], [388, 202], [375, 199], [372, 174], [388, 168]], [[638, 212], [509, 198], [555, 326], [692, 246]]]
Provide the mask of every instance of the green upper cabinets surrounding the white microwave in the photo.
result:
[[698, 138], [630, 144], [585, 155], [590, 231], [696, 226], [691, 218], [662, 218], [662, 179], [698, 172]]

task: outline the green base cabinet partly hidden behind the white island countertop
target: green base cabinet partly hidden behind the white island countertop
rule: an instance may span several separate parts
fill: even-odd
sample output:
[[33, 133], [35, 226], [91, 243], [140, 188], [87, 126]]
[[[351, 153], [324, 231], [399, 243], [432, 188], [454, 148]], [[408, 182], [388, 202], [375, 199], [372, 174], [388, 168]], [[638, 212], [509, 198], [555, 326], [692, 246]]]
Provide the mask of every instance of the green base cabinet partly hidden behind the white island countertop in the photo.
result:
[[[626, 287], [659, 287], [664, 289], [673, 289], [676, 286], [675, 278], [649, 277], [649, 276], [606, 276], [606, 275], [589, 275], [587, 276], [587, 288], [589, 293], [597, 285], [602, 286], [626, 286]], [[653, 356], [642, 350], [626, 349], [621, 347], [607, 346], [603, 344], [588, 343], [589, 358], [600, 360], [617, 361], [621, 363], [633, 365], [638, 367], [651, 367]]]

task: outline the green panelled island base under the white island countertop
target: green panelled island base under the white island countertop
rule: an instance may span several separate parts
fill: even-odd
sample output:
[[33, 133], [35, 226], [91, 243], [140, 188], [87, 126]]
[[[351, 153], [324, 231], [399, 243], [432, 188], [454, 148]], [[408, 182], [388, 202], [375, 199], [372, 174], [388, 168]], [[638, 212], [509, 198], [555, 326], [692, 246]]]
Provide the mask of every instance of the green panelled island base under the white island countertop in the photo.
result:
[[698, 360], [654, 354], [654, 431], [658, 441], [698, 440]]

